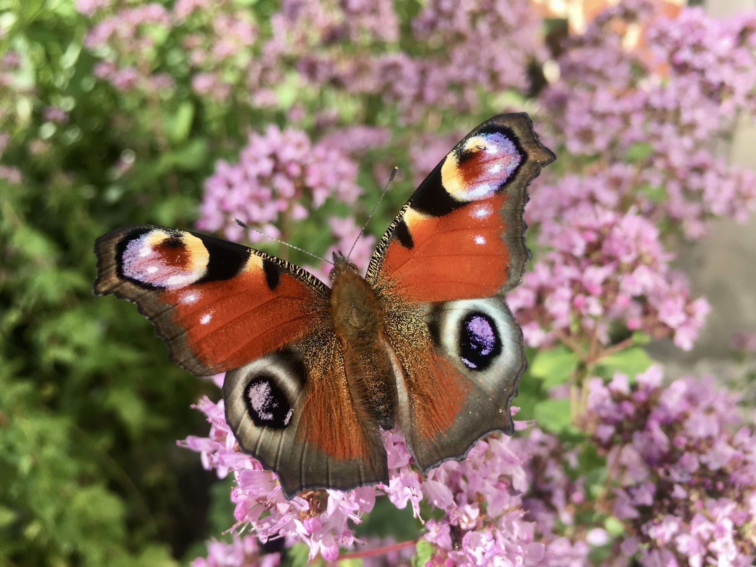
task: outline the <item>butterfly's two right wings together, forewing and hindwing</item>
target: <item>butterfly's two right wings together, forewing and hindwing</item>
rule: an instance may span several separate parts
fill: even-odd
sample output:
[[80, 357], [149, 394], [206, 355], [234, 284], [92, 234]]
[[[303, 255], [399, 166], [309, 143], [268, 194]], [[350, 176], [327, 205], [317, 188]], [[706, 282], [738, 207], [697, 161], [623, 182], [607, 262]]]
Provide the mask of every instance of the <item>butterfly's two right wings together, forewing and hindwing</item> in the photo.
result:
[[525, 355], [501, 294], [528, 259], [526, 189], [553, 159], [527, 115], [483, 122], [420, 184], [370, 261], [403, 386], [397, 422], [423, 472], [488, 432], [513, 432]]

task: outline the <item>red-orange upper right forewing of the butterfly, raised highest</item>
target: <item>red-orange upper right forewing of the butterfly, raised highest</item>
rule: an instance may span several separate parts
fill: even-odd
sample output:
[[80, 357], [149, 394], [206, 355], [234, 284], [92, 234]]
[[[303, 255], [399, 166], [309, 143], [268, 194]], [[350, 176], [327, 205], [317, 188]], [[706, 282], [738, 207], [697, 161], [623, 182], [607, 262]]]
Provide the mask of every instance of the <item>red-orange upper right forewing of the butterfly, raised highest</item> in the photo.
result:
[[526, 187], [553, 159], [526, 114], [483, 122], [417, 187], [378, 243], [367, 280], [408, 302], [516, 286], [528, 260]]

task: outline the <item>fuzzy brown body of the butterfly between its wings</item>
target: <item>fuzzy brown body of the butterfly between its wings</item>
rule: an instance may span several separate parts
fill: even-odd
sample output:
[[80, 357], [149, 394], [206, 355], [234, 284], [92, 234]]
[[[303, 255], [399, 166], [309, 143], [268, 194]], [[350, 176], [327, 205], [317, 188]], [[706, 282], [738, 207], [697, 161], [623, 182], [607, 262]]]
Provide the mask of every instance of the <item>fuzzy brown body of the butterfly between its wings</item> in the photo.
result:
[[384, 312], [373, 288], [353, 271], [333, 280], [330, 309], [344, 345], [344, 366], [352, 397], [383, 429], [394, 426], [397, 390], [383, 342]]

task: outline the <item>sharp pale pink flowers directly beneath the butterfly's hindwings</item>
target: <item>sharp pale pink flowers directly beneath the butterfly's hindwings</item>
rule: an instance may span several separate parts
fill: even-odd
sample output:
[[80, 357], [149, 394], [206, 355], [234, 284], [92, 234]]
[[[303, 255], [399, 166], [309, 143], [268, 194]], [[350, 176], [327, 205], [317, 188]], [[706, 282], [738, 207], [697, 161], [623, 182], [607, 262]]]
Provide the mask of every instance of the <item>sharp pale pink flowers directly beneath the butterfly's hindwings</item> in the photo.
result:
[[[310, 548], [310, 558], [321, 555], [335, 560], [339, 547], [358, 541], [352, 527], [373, 509], [376, 498], [387, 497], [395, 507], [411, 506], [420, 516], [420, 502], [443, 511], [425, 522], [423, 538], [434, 546], [428, 565], [565, 565], [565, 558], [585, 559], [590, 545], [550, 534], [539, 536], [537, 524], [528, 521], [523, 494], [529, 488], [525, 469], [531, 453], [527, 440], [513, 442], [507, 436], [491, 435], [478, 442], [466, 459], [448, 461], [432, 469], [427, 479], [414, 468], [399, 432], [384, 432], [389, 460], [389, 484], [352, 491], [303, 492], [286, 500], [273, 472], [240, 452], [225, 423], [223, 402], [203, 398], [197, 408], [211, 423], [206, 438], [187, 437], [179, 445], [201, 454], [203, 466], [218, 476], [234, 475], [231, 492], [236, 503], [236, 530], [249, 529], [262, 541], [286, 537]], [[525, 429], [524, 422], [516, 422]], [[534, 438], [534, 451], [541, 451], [541, 438]], [[556, 498], [554, 499], [556, 500]], [[539, 538], [541, 541], [539, 541]], [[237, 565], [234, 563], [233, 565]]]

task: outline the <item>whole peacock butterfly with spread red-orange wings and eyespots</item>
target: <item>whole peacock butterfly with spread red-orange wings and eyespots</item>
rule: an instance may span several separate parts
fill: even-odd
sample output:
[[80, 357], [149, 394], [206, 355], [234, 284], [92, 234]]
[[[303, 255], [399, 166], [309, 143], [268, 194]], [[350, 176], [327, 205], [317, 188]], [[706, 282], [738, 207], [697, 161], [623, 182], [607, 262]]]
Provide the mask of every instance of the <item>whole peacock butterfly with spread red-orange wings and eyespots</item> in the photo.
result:
[[381, 429], [395, 426], [427, 475], [513, 433], [526, 361], [503, 294], [529, 257], [526, 189], [554, 159], [527, 114], [483, 122], [401, 208], [365, 277], [341, 253], [328, 287], [241, 244], [132, 225], [96, 241], [94, 292], [135, 303], [175, 364], [226, 372], [228, 425], [287, 498], [388, 483]]

